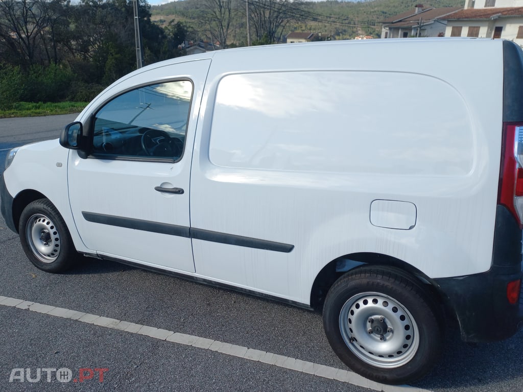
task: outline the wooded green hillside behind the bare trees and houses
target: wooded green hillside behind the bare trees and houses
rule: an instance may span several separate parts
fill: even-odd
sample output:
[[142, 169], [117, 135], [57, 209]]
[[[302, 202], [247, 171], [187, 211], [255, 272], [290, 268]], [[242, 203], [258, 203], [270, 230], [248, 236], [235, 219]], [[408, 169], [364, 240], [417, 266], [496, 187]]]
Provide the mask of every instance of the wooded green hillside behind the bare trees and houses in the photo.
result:
[[[249, 0], [255, 3], [254, 0]], [[152, 20], [164, 26], [169, 21], [183, 22], [189, 29], [189, 39], [210, 39], [206, 36], [204, 18], [204, 4], [209, 0], [183, 0], [152, 6]], [[321, 2], [294, 2], [290, 6], [299, 4], [301, 20], [290, 20], [280, 32], [285, 36], [291, 31], [308, 31], [321, 33], [329, 39], [353, 39], [364, 34], [375, 38], [379, 37], [381, 21], [414, 9], [419, 0], [373, 0], [364, 2], [340, 2], [334, 0]], [[431, 7], [463, 6], [463, 0], [428, 0], [423, 4]], [[245, 45], [246, 40], [246, 13], [245, 0], [237, 0], [234, 16], [230, 28], [229, 43]]]

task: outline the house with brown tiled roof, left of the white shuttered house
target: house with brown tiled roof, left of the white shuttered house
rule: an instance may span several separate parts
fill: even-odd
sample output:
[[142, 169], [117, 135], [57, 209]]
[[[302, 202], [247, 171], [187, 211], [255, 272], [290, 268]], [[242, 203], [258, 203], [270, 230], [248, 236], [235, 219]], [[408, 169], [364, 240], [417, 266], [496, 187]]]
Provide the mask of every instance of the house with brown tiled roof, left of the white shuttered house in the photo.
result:
[[439, 18], [451, 15], [460, 9], [462, 8], [433, 8], [418, 4], [414, 10], [405, 11], [382, 21], [381, 38], [442, 37], [447, 22]]

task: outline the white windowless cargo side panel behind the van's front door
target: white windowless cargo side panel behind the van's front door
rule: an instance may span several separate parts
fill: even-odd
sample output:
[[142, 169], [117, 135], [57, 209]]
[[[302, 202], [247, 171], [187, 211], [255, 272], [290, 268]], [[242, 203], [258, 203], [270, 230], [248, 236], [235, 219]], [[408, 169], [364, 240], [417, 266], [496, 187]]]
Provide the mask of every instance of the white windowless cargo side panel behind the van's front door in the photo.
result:
[[[319, 271], [352, 253], [391, 256], [433, 279], [490, 269], [502, 42], [313, 49], [215, 54], [192, 163], [191, 227], [294, 248], [195, 239], [197, 273], [309, 304]], [[390, 202], [374, 203], [386, 208], [373, 224], [376, 200]], [[395, 224], [411, 204], [415, 216]]]

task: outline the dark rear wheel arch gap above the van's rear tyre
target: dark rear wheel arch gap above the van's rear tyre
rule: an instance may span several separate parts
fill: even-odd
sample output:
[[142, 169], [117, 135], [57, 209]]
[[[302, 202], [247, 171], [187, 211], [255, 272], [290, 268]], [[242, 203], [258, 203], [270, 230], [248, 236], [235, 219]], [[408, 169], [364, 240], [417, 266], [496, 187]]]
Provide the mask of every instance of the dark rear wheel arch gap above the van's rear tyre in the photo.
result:
[[334, 282], [348, 271], [352, 271], [362, 266], [392, 267], [396, 270], [403, 271], [404, 273], [413, 276], [423, 284], [424, 287], [427, 287], [427, 290], [434, 299], [436, 299], [441, 305], [445, 305], [444, 298], [441, 297], [441, 294], [437, 289], [438, 285], [434, 280], [430, 279], [426, 274], [413, 267], [411, 264], [382, 253], [358, 252], [338, 257], [337, 259], [327, 263], [326, 266], [321, 269], [321, 271], [316, 275], [312, 285], [310, 298], [311, 308], [321, 310], [327, 292]]

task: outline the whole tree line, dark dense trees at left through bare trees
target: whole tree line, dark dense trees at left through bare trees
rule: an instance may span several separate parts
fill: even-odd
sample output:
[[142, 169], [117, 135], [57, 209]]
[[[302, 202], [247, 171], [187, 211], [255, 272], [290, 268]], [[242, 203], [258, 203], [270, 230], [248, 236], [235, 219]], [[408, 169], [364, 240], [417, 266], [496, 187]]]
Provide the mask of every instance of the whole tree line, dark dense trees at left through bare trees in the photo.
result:
[[[252, 1], [253, 44], [278, 41], [301, 17], [299, 4]], [[197, 23], [162, 26], [151, 21], [146, 0], [138, 5], [143, 63], [151, 64], [185, 54], [189, 34], [218, 48], [234, 45], [229, 34], [246, 3], [201, 0]], [[17, 101], [88, 101], [135, 67], [132, 0], [0, 0], [0, 109]]]

